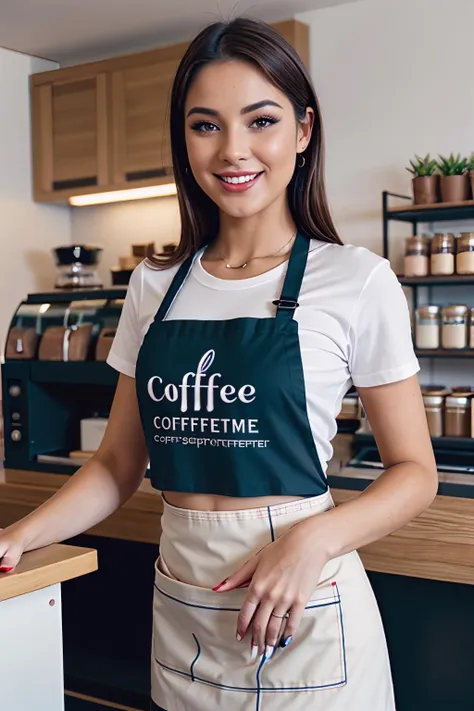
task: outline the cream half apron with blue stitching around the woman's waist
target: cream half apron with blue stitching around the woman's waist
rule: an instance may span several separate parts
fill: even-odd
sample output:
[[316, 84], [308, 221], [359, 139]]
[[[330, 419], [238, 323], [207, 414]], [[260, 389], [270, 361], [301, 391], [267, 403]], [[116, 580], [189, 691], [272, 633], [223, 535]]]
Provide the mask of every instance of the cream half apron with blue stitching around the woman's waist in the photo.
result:
[[[252, 661], [236, 639], [247, 589], [212, 591], [330, 493], [242, 511], [164, 502], [156, 563], [152, 700], [166, 711], [393, 711], [384, 631], [357, 553], [330, 561], [292, 643]], [[153, 708], [156, 706], [152, 705]]]

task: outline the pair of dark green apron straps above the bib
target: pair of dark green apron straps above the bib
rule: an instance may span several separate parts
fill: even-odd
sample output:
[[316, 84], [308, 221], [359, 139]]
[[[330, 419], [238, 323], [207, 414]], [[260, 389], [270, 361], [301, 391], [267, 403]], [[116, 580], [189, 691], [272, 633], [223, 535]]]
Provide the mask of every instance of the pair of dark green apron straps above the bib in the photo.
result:
[[[306, 261], [308, 259], [309, 239], [300, 232], [296, 235], [293, 249], [291, 250], [288, 268], [286, 270], [285, 282], [279, 299], [273, 302], [277, 307], [276, 318], [291, 320], [298, 306], [298, 296], [303, 282]], [[193, 256], [188, 257], [176, 272], [173, 281], [165, 294], [161, 306], [155, 316], [155, 321], [164, 321], [166, 315], [178, 296], [189, 272], [192, 269], [194, 260], [197, 259], [201, 250]]]

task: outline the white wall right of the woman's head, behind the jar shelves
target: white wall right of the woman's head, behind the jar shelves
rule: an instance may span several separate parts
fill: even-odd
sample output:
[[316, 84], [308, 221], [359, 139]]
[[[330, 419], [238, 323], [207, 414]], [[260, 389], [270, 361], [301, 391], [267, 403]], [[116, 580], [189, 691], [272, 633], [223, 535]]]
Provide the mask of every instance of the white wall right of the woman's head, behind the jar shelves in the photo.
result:
[[[311, 28], [335, 221], [344, 242], [382, 253], [381, 193], [410, 194], [409, 158], [474, 151], [474, 2], [360, 0], [298, 18]], [[459, 231], [463, 225], [438, 227]], [[410, 229], [390, 226], [397, 271]], [[431, 298], [474, 306], [473, 292], [437, 289]], [[422, 365], [425, 382], [474, 384], [472, 361]]]

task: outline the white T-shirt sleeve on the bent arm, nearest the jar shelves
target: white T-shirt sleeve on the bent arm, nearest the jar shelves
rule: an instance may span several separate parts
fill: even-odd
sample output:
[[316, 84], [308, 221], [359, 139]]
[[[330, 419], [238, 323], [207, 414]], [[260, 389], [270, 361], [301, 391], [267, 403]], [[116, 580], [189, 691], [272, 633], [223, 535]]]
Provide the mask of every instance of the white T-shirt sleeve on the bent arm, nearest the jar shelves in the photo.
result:
[[359, 296], [349, 348], [349, 368], [356, 387], [405, 380], [420, 369], [413, 350], [408, 303], [386, 260], [371, 272]]

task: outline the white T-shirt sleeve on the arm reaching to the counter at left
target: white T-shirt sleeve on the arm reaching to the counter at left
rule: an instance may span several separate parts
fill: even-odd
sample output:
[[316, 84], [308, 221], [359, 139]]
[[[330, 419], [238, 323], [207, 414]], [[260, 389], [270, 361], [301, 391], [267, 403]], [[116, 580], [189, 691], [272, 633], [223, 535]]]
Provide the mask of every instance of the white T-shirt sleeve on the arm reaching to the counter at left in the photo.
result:
[[142, 266], [139, 265], [130, 278], [117, 333], [107, 357], [107, 363], [112, 368], [131, 378], [135, 377], [135, 365], [142, 342], [139, 318], [141, 296]]

